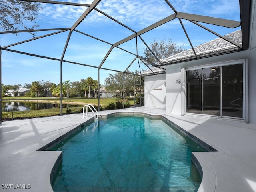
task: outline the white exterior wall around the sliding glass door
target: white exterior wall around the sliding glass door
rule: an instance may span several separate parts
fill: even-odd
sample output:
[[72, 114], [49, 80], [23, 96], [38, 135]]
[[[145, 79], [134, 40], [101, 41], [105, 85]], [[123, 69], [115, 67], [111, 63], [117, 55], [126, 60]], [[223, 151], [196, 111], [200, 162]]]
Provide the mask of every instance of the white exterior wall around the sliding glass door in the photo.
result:
[[[166, 112], [168, 114], [182, 114], [181, 88], [182, 83], [177, 83], [177, 79], [181, 79], [181, 69], [203, 66], [206, 64], [214, 64], [219, 62], [228, 62], [232, 60], [248, 58], [248, 121], [256, 123], [256, 48], [221, 56], [214, 56], [190, 62], [182, 62], [166, 66]], [[145, 84], [148, 82], [145, 82]], [[146, 86], [146, 85], [145, 85]], [[148, 85], [147, 85], [148, 87]], [[145, 94], [146, 97], [146, 94]], [[153, 97], [153, 96], [151, 96]]]

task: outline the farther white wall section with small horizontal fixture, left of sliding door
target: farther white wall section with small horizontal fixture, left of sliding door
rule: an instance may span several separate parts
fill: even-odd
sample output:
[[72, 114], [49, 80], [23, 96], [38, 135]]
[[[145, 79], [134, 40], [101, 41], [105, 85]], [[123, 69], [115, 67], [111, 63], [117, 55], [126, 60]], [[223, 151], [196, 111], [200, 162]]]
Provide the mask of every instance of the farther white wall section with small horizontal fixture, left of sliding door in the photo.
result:
[[145, 77], [144, 106], [166, 109], [166, 74]]

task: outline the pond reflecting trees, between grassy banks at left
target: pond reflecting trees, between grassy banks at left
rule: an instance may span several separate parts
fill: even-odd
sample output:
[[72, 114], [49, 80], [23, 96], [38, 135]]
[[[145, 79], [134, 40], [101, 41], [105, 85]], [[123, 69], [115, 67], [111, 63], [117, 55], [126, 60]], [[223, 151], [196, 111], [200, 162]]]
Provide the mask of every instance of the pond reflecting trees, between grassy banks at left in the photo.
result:
[[[62, 108], [76, 107], [77, 105], [62, 104]], [[41, 103], [41, 102], [19, 102], [2, 101], [2, 112], [8, 111], [28, 111], [38, 109], [60, 108], [60, 103]]]

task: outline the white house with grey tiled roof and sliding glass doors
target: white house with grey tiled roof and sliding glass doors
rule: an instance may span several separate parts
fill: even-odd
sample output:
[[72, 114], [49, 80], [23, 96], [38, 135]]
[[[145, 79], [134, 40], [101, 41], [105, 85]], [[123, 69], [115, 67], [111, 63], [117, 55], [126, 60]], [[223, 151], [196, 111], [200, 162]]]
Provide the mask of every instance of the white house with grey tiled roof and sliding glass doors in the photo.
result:
[[[256, 123], [256, 29], [251, 22], [249, 48], [239, 52], [241, 30], [160, 60], [145, 76], [146, 107], [164, 108], [167, 114], [205, 116]], [[229, 51], [218, 55], [218, 52]], [[186, 61], [182, 61], [186, 60]], [[164, 69], [163, 69], [164, 68]], [[151, 73], [151, 75], [150, 75]]]

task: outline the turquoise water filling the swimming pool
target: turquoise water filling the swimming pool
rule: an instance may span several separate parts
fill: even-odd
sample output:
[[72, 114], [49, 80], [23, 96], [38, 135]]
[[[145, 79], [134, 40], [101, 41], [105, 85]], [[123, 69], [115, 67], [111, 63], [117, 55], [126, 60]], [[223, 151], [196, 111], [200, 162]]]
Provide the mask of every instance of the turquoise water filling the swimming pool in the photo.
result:
[[63, 152], [55, 192], [194, 192], [200, 185], [191, 152], [203, 149], [161, 119], [101, 119], [52, 150]]

